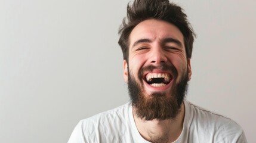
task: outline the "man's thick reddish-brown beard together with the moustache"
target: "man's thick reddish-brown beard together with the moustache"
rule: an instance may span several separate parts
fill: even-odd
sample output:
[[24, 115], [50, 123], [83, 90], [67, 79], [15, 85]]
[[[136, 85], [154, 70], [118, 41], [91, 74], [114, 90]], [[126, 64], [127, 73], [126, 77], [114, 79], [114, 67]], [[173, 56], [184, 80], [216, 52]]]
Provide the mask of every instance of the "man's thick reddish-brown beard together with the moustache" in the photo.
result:
[[[140, 69], [140, 73], [143, 73], [145, 70], [152, 71], [156, 68], [157, 67], [155, 66], [146, 67]], [[172, 65], [168, 66], [165, 64], [164, 66], [161, 66], [161, 69], [169, 69], [172, 73], [177, 75], [177, 70]], [[143, 91], [143, 86], [140, 86], [140, 84], [136, 82], [134, 76], [129, 72], [128, 90], [132, 105], [135, 107], [135, 114], [144, 120], [175, 119], [180, 112], [181, 104], [183, 103], [188, 86], [187, 70], [181, 74], [182, 77], [180, 81], [177, 82], [174, 80], [172, 82], [171, 95], [166, 95], [166, 92], [154, 92], [151, 95], [146, 95], [146, 92]], [[141, 80], [143, 77], [141, 77], [141, 75], [139, 75], [139, 77], [141, 85], [143, 85]], [[177, 79], [177, 76], [175, 79]]]

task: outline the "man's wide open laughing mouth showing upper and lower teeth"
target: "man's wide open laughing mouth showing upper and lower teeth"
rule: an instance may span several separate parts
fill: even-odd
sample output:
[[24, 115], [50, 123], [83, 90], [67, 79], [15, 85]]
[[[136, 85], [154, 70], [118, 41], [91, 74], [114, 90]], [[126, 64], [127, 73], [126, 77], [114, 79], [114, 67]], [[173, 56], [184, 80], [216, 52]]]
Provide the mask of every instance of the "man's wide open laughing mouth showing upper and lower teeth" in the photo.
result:
[[169, 73], [147, 73], [145, 76], [147, 84], [154, 87], [166, 86], [171, 82], [171, 74]]

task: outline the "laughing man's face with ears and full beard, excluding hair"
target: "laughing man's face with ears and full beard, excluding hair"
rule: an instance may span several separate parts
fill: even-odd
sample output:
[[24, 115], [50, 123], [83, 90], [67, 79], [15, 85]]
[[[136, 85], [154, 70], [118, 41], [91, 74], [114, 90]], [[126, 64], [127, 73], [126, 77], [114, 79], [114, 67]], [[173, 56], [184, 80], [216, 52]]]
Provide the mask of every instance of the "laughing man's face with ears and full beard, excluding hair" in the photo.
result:
[[180, 30], [162, 20], [139, 23], [129, 36], [128, 63], [124, 61], [124, 78], [138, 116], [146, 120], [174, 118], [181, 104], [177, 100], [183, 101], [191, 76]]

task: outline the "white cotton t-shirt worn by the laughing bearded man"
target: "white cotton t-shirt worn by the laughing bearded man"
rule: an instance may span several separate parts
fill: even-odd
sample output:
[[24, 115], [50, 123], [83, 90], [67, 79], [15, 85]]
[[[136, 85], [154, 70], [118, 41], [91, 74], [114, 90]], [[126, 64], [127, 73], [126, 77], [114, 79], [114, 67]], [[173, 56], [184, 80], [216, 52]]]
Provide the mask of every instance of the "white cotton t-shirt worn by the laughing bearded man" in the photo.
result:
[[[184, 142], [247, 142], [243, 129], [233, 120], [184, 101], [183, 131], [175, 143]], [[81, 120], [68, 143], [114, 143], [146, 141], [138, 132], [127, 103], [113, 110]]]

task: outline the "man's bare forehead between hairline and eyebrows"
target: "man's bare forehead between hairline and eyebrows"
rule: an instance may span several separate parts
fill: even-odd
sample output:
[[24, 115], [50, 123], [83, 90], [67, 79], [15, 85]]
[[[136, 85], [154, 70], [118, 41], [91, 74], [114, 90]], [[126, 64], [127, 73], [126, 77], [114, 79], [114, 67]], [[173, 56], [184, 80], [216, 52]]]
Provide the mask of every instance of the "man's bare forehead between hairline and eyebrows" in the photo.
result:
[[137, 24], [129, 35], [129, 46], [139, 39], [150, 39], [154, 42], [165, 38], [177, 39], [184, 47], [183, 34], [174, 24], [163, 20], [144, 20]]

